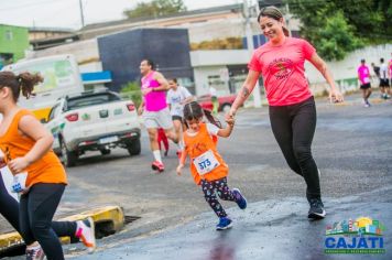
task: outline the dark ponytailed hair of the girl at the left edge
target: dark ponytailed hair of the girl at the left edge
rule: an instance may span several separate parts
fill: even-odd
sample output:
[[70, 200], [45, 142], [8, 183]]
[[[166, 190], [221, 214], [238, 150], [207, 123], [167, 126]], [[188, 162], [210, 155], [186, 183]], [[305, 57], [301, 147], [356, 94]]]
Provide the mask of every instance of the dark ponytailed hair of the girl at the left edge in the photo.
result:
[[0, 88], [9, 87], [12, 91], [13, 100], [17, 102], [22, 91], [25, 98], [33, 96], [34, 86], [43, 82], [40, 74], [21, 73], [18, 76], [12, 72], [0, 72]]

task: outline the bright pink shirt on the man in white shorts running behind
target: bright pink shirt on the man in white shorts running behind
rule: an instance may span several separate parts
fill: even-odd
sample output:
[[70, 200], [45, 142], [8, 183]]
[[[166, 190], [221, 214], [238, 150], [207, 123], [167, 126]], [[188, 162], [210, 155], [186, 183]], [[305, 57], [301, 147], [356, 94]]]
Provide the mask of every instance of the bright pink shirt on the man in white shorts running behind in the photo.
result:
[[[142, 77], [142, 89], [155, 88], [160, 83], [154, 79], [154, 72]], [[167, 107], [165, 91], [151, 91], [144, 97], [144, 106], [146, 111], [156, 112]]]

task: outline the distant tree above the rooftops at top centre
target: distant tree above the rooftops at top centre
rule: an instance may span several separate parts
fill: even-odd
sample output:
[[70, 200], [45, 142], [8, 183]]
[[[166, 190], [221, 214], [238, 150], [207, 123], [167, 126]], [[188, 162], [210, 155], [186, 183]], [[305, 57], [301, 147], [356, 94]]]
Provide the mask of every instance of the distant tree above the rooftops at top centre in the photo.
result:
[[161, 17], [186, 11], [182, 0], [153, 0], [151, 2], [138, 2], [133, 9], [124, 10], [127, 18]]

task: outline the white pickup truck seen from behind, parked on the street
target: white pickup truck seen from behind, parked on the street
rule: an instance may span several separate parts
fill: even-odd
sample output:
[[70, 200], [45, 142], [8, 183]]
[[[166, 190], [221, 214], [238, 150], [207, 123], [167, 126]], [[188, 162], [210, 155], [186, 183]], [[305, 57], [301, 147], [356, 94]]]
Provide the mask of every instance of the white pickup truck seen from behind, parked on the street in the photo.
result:
[[74, 166], [86, 151], [109, 154], [115, 147], [140, 154], [140, 123], [131, 100], [112, 91], [90, 91], [61, 98], [53, 106], [46, 128], [55, 138], [53, 150], [66, 166]]

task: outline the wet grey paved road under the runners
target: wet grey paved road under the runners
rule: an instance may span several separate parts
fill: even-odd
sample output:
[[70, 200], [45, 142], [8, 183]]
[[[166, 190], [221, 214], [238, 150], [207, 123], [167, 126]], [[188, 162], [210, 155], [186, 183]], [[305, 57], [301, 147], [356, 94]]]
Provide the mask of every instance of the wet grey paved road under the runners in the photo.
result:
[[[370, 216], [388, 227], [392, 220], [392, 102], [363, 108], [358, 95], [348, 99], [350, 106], [317, 100], [313, 150], [328, 212], [323, 221], [306, 219], [305, 185], [286, 166], [266, 108], [240, 111], [232, 137], [219, 142], [230, 166], [229, 185], [240, 187], [250, 202], [246, 212], [224, 203], [236, 221], [229, 232], [214, 230], [216, 217], [190, 176], [176, 176], [175, 150], [165, 159], [163, 174], [150, 170], [145, 133], [140, 156], [115, 150], [104, 158], [86, 156], [69, 169], [61, 212], [116, 204], [127, 215], [142, 217], [99, 240], [100, 249], [90, 259], [265, 259], [272, 253], [276, 259], [328, 258], [322, 253], [328, 224]], [[87, 259], [78, 245], [65, 250], [68, 257]]]

